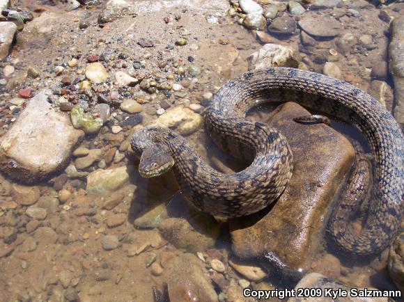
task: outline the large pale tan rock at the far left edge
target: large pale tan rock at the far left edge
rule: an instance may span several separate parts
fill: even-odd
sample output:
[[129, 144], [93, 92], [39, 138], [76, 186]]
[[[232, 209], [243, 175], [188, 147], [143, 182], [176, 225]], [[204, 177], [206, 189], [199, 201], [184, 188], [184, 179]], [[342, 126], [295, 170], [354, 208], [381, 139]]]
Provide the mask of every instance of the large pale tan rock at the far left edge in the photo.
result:
[[68, 116], [52, 109], [47, 92], [39, 93], [1, 139], [0, 169], [22, 182], [42, 180], [67, 164], [82, 136]]

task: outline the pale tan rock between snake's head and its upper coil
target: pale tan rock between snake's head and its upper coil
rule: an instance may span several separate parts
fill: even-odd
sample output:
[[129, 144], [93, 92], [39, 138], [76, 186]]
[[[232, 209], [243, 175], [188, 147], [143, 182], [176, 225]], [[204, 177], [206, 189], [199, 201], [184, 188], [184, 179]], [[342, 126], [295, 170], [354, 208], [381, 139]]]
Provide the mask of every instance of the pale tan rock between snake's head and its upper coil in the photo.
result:
[[175, 129], [181, 135], [188, 135], [196, 132], [203, 122], [203, 118], [194, 111], [182, 108], [182, 106], [175, 107], [165, 111], [162, 116], [159, 116], [155, 121], [155, 126], [169, 127]]

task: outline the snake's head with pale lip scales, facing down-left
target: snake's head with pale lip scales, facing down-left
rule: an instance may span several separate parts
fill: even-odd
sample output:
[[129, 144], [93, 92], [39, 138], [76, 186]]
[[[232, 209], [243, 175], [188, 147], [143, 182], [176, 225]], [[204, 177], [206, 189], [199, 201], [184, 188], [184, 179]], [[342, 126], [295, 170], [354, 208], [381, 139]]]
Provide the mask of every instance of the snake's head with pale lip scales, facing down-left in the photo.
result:
[[174, 166], [174, 159], [169, 148], [156, 143], [153, 148], [146, 148], [141, 153], [139, 173], [141, 177], [155, 177], [166, 173], [172, 166]]

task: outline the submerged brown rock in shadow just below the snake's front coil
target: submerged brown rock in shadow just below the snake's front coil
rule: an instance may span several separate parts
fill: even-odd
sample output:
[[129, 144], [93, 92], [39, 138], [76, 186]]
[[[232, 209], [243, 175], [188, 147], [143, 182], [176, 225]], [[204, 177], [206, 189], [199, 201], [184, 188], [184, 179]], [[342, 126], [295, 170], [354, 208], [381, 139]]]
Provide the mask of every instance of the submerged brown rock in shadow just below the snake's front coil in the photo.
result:
[[219, 236], [219, 228], [213, 219], [193, 226], [184, 218], [167, 218], [160, 223], [159, 230], [171, 244], [193, 253], [212, 248]]

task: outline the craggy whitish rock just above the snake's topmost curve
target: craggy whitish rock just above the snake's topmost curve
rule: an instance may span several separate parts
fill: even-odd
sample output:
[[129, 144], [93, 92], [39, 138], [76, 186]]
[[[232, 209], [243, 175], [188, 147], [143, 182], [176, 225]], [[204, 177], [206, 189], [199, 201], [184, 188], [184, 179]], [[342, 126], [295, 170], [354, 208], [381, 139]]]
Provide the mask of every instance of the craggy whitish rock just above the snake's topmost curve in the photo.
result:
[[248, 69], [258, 70], [266, 67], [297, 67], [295, 51], [287, 46], [265, 44], [260, 50], [247, 57]]

